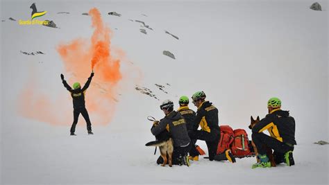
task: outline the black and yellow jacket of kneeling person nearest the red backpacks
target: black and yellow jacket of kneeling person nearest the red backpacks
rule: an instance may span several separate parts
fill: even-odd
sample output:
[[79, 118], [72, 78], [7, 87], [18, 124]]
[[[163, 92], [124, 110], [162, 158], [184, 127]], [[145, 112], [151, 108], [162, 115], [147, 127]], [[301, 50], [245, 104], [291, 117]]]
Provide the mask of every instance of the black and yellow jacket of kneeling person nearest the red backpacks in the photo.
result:
[[204, 101], [196, 111], [193, 130], [200, 125], [205, 132], [220, 134], [218, 124], [218, 109], [209, 101]]

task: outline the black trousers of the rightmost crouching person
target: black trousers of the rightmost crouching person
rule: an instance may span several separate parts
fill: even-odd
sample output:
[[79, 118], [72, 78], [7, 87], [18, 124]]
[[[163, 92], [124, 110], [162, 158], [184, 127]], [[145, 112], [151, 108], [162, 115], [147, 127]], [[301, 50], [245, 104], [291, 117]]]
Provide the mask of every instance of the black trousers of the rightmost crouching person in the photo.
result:
[[264, 134], [262, 132], [253, 132], [251, 137], [253, 139], [253, 143], [255, 143], [255, 146], [258, 150], [258, 154], [266, 155], [267, 150], [266, 148], [264, 148], [264, 146], [267, 146], [268, 148], [274, 150], [273, 157], [276, 161], [276, 164], [280, 164], [281, 162], [283, 162], [285, 152], [294, 150], [294, 146], [291, 146], [287, 143], [282, 143], [281, 141], [278, 141], [278, 139], [268, 136], [267, 134]]

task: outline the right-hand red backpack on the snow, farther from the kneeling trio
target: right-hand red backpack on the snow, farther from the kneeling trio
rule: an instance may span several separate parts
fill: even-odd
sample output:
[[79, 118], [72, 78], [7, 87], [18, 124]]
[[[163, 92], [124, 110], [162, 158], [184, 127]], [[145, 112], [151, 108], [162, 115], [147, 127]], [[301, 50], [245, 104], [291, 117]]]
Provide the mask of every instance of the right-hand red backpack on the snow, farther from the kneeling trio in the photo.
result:
[[249, 155], [250, 148], [248, 146], [248, 134], [246, 130], [237, 129], [233, 131], [234, 133], [234, 141], [230, 147], [233, 155], [237, 157], [244, 157]]

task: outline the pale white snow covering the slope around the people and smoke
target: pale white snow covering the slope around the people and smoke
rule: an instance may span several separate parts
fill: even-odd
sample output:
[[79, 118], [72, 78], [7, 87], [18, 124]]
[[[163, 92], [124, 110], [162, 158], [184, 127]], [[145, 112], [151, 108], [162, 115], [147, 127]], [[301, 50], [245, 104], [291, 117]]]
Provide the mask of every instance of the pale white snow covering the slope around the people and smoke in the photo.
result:
[[[77, 2], [36, 2], [59, 27], [48, 28], [8, 21], [28, 19], [30, 1], [1, 1], [1, 184], [328, 184], [328, 145], [313, 144], [328, 141], [328, 1], [318, 1], [322, 12], [310, 10], [314, 1]], [[90, 17], [81, 14], [93, 7], [113, 30], [112, 46], [125, 51], [142, 71], [142, 87], [160, 100], [176, 102], [203, 90], [221, 124], [251, 134], [250, 116], [264, 117], [267, 100], [280, 97], [282, 109], [296, 118], [296, 165], [251, 169], [255, 158], [236, 164], [200, 159], [189, 168], [156, 165], [158, 154], [144, 144], [154, 139], [146, 116], [163, 117], [160, 101], [135, 91], [133, 82], [121, 85], [126, 89], [110, 123], [97, 125], [90, 115], [92, 136], [82, 117], [78, 136], [69, 136], [71, 117], [67, 125], [51, 125], [21, 116], [17, 97], [31, 75], [35, 91], [48, 92], [55, 103], [67, 97], [59, 74], [72, 71], [64, 71], [56, 46], [92, 35]], [[70, 14], [56, 14], [62, 11]], [[112, 11], [122, 16], [107, 15]], [[145, 21], [154, 31], [144, 35], [128, 19]], [[162, 55], [165, 50], [176, 60]], [[169, 83], [168, 94], [155, 83]], [[66, 100], [54, 112], [58, 117], [71, 112]]]

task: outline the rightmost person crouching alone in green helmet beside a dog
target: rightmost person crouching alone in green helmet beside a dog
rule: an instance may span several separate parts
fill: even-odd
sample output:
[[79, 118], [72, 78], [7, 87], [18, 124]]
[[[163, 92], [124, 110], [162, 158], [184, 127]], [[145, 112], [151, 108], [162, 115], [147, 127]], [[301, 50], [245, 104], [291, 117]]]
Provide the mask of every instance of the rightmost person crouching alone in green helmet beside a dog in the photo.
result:
[[[281, 110], [281, 100], [271, 98], [267, 102], [269, 114], [253, 127], [253, 143], [258, 150], [260, 162], [253, 164], [252, 168], [271, 167], [269, 157], [266, 155], [266, 148], [274, 150], [273, 156], [276, 164], [285, 162], [287, 166], [295, 164], [292, 152], [295, 141], [295, 120], [289, 116], [289, 111]], [[270, 136], [263, 131], [268, 130]]]

